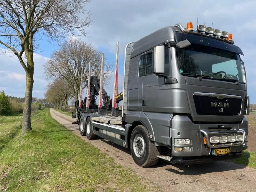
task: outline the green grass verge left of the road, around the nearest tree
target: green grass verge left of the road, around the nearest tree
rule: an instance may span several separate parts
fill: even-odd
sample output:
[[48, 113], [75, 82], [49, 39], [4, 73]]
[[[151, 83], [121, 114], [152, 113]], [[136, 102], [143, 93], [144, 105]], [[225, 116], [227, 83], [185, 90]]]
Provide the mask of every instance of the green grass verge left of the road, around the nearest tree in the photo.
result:
[[49, 109], [34, 114], [25, 136], [21, 115], [0, 122], [0, 191], [160, 190], [60, 125]]

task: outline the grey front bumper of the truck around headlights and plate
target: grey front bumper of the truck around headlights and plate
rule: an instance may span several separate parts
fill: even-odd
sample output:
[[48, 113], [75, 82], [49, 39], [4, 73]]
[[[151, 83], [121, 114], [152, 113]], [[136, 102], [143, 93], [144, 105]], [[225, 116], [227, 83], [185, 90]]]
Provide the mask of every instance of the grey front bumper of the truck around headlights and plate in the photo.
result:
[[[228, 158], [231, 154], [240, 153], [247, 149], [247, 141], [242, 142], [238, 145], [223, 145], [209, 147], [204, 144], [205, 134], [204, 132], [243, 132], [244, 137], [248, 135], [248, 122], [244, 117], [241, 123], [236, 124], [194, 124], [188, 116], [176, 115], [172, 119], [172, 129], [170, 145], [172, 146], [173, 157], [212, 157], [212, 159]], [[174, 145], [174, 138], [189, 138], [191, 143], [189, 145]], [[208, 143], [207, 143], [208, 144]], [[191, 151], [174, 151], [174, 147], [191, 147]], [[212, 156], [213, 148], [229, 148], [229, 154], [224, 156]], [[219, 158], [216, 158], [219, 157]], [[231, 157], [232, 158], [232, 157]], [[198, 158], [197, 158], [198, 159]], [[196, 160], [198, 161], [198, 160]]]

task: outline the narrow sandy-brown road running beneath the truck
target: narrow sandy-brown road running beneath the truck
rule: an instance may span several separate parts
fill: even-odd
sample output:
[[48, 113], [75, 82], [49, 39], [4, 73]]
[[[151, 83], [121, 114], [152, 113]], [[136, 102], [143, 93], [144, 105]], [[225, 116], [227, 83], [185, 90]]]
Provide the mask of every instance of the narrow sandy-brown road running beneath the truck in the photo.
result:
[[75, 119], [53, 109], [50, 112], [54, 119], [74, 134], [165, 191], [256, 191], [255, 169], [226, 161], [190, 166], [159, 161], [152, 168], [141, 168], [134, 163], [129, 149], [103, 139], [88, 140], [80, 135], [78, 124], [71, 124]]

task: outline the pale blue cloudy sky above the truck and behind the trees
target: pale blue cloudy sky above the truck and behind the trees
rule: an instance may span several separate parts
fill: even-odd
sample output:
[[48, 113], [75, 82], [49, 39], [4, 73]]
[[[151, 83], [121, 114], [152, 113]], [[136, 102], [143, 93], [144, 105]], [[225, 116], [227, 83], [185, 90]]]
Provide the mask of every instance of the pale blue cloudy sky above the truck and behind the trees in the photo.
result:
[[[108, 61], [115, 62], [116, 42], [119, 47], [119, 90], [122, 89], [124, 67], [124, 48], [131, 41], [137, 41], [160, 28], [181, 23], [193, 22], [228, 31], [233, 34], [235, 45], [243, 52], [242, 59], [247, 72], [248, 94], [250, 102], [256, 103], [256, 1], [135, 1], [135, 0], [92, 0], [85, 4], [94, 22], [87, 28], [87, 37], [80, 36], [87, 43], [93, 44], [101, 52], [105, 52]], [[3, 47], [2, 47], [3, 48]], [[47, 81], [42, 65], [58, 49], [58, 43], [49, 43], [46, 37], [39, 41], [40, 51], [36, 51], [35, 81], [33, 97], [43, 98]], [[25, 72], [12, 53], [0, 55], [0, 89], [6, 94], [24, 97]], [[112, 81], [106, 88], [112, 95]]]

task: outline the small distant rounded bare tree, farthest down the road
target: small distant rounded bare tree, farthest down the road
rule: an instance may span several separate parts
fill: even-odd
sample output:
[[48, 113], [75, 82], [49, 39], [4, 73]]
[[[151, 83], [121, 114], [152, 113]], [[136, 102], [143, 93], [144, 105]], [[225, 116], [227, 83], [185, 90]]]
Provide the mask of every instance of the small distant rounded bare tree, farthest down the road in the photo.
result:
[[73, 91], [64, 79], [55, 79], [53, 82], [49, 83], [46, 88], [45, 98], [48, 102], [58, 105], [58, 109], [66, 110], [67, 101], [73, 97]]

